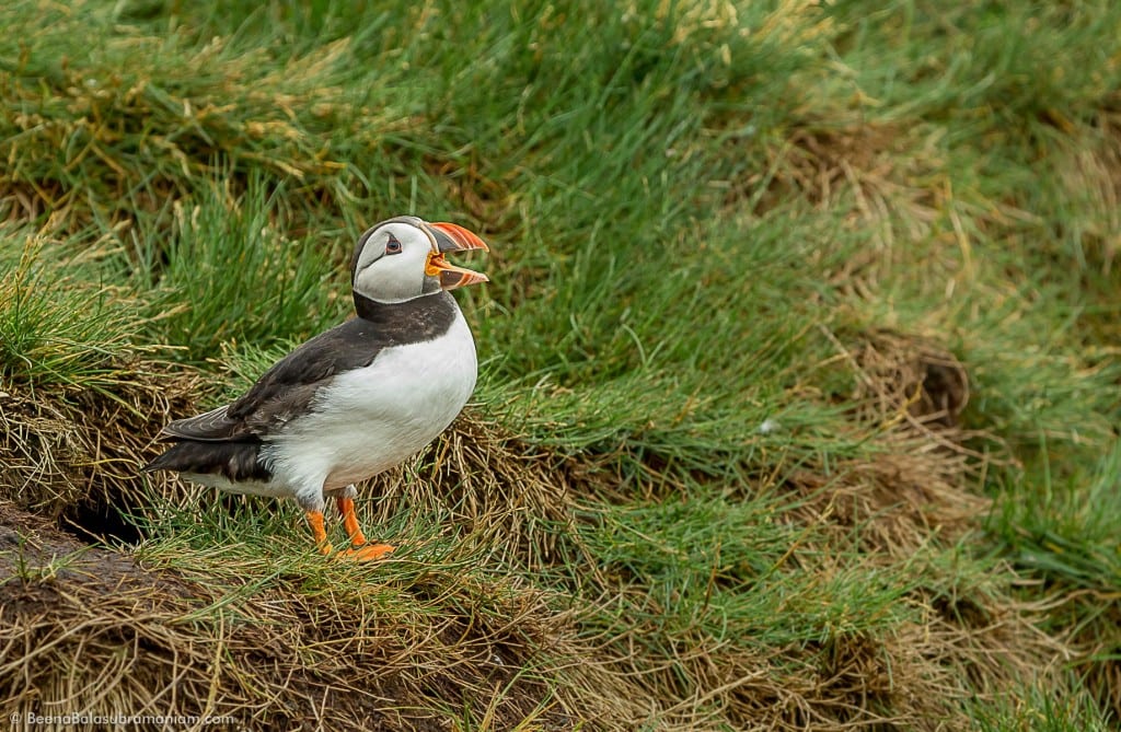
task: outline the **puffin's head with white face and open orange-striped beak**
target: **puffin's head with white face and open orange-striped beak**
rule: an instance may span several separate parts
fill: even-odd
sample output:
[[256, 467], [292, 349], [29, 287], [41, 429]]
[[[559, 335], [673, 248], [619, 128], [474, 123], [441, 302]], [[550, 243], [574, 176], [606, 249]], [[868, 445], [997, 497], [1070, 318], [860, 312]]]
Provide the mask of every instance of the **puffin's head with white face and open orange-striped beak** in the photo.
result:
[[482, 249], [482, 239], [463, 226], [396, 216], [358, 240], [351, 265], [355, 297], [376, 303], [404, 303], [444, 289], [488, 281], [485, 275], [450, 265], [450, 251]]

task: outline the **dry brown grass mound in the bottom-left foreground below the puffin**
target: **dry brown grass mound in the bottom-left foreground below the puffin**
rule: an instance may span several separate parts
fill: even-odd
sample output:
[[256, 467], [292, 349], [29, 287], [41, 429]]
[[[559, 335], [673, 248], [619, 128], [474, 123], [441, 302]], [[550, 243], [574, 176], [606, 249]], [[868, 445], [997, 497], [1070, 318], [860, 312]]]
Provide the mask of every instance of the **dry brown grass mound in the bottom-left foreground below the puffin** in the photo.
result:
[[[239, 729], [445, 730], [433, 714], [443, 708], [504, 730], [602, 712], [550, 703], [555, 679], [527, 673], [543, 655], [576, 666], [582, 649], [571, 617], [513, 580], [392, 586], [367, 573], [307, 592], [314, 578], [294, 571], [229, 603], [228, 586], [83, 546], [8, 502], [0, 531], [6, 717], [81, 710], [229, 715]], [[383, 615], [396, 593], [419, 600], [411, 617]]]

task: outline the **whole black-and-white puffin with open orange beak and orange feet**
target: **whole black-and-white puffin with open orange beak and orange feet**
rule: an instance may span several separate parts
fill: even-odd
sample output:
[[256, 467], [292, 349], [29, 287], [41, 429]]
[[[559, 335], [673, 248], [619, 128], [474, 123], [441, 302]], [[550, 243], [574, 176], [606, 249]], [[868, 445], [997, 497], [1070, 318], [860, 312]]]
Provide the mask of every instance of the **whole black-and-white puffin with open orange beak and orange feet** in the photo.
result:
[[379, 559], [368, 541], [355, 483], [402, 463], [460, 414], [475, 387], [475, 343], [450, 290], [489, 281], [448, 252], [489, 251], [463, 226], [396, 216], [354, 248], [355, 317], [277, 361], [237, 400], [172, 421], [173, 443], [145, 472], [176, 471], [222, 491], [294, 498], [319, 552], [334, 550], [324, 509], [334, 499], [350, 547], [340, 558]]

